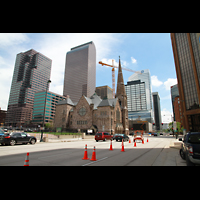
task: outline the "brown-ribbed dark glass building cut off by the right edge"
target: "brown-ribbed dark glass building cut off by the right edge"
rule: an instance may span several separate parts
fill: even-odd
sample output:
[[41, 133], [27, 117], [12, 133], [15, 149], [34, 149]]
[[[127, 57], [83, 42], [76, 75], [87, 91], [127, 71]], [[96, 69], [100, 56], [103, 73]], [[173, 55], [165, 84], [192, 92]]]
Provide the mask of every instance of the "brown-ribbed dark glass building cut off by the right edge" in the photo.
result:
[[200, 33], [171, 33], [183, 127], [200, 131]]

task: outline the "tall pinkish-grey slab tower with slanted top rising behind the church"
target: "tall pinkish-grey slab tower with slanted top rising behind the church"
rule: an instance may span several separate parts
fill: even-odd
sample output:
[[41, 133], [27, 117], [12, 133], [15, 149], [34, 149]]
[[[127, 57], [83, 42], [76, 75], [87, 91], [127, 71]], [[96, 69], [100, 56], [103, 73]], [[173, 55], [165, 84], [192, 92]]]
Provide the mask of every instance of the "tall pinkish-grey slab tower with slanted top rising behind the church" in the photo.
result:
[[90, 97], [96, 87], [96, 48], [93, 42], [71, 48], [67, 52], [63, 95], [78, 102], [82, 95]]

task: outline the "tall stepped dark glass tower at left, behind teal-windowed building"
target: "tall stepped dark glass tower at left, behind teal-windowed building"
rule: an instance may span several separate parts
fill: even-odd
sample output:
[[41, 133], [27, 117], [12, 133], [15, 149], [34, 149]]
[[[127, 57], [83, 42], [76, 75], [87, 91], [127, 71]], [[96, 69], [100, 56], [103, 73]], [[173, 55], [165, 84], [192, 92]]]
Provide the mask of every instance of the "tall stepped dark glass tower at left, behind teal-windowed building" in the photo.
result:
[[32, 119], [34, 94], [46, 90], [52, 60], [31, 49], [17, 54], [8, 101], [6, 124], [23, 126]]

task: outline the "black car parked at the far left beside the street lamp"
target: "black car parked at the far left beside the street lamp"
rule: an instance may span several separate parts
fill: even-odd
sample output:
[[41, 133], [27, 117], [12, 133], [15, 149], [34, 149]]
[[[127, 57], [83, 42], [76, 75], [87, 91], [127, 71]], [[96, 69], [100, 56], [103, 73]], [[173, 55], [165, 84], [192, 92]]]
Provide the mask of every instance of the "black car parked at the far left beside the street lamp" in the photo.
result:
[[25, 132], [12, 132], [10, 134], [4, 134], [0, 136], [0, 144], [10, 144], [11, 146], [19, 143], [35, 144], [37, 139], [34, 136], [30, 136]]

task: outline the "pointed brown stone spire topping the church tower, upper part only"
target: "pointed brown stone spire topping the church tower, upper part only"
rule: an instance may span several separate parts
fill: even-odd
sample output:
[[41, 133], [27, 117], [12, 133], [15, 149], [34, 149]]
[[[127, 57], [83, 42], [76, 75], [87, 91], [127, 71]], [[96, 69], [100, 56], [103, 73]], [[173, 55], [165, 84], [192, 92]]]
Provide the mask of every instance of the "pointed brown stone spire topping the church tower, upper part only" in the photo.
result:
[[117, 78], [117, 93], [115, 97], [118, 97], [119, 95], [126, 95], [120, 56], [119, 56], [118, 78]]

